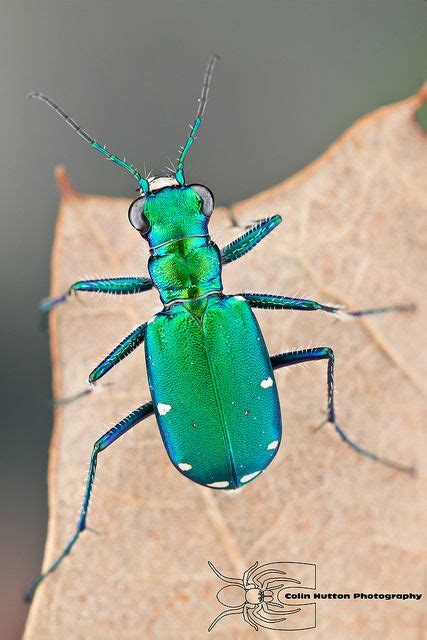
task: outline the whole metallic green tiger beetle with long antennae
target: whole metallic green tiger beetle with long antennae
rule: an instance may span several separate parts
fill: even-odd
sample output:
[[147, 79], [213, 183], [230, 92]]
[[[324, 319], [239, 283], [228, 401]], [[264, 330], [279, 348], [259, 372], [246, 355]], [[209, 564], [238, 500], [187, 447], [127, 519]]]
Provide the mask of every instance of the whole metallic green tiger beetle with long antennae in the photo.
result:
[[204, 185], [186, 182], [185, 158], [202, 122], [217, 59], [217, 55], [209, 59], [196, 118], [173, 175], [143, 177], [133, 165], [98, 144], [49, 97], [40, 92], [29, 94], [45, 102], [92, 148], [137, 180], [140, 195], [132, 202], [128, 216], [131, 225], [148, 242], [150, 251], [149, 277], [79, 281], [65, 294], [45, 302], [42, 310], [50, 311], [76, 292], [130, 295], [153, 287], [159, 293], [163, 309], [132, 331], [89, 376], [89, 382], [95, 384], [144, 342], [151, 400], [95, 442], [76, 531], [56, 562], [33, 582], [28, 599], [40, 582], [57, 569], [86, 528], [99, 453], [148, 416], [155, 415], [169, 458], [186, 478], [211, 489], [230, 490], [259, 476], [272, 462], [281, 440], [275, 369], [326, 359], [325, 422], [331, 423], [341, 439], [358, 453], [395, 469], [412, 471], [359, 446], [337, 423], [332, 349], [318, 347], [270, 357], [252, 311], [252, 308], [321, 310], [355, 317], [411, 311], [411, 305], [345, 312], [313, 300], [223, 293], [222, 267], [251, 251], [281, 222], [281, 217], [273, 215], [255, 222], [220, 250], [208, 231], [214, 210], [213, 194]]

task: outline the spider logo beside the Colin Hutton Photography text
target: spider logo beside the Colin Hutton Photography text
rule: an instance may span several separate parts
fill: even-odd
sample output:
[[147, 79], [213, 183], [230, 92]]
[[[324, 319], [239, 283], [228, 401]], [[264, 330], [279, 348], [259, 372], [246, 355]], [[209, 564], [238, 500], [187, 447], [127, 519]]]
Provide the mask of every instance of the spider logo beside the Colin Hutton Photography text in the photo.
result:
[[315, 626], [315, 623], [310, 627], [287, 624], [288, 616], [295, 615], [302, 609], [307, 610], [308, 606], [314, 612], [315, 605], [291, 607], [279, 599], [280, 592], [291, 586], [301, 585], [305, 588], [301, 580], [288, 578], [284, 570], [285, 567], [289, 569], [290, 565], [302, 566], [304, 563], [270, 562], [258, 566], [258, 562], [255, 562], [243, 573], [242, 578], [229, 578], [220, 573], [212, 562], [208, 562], [208, 565], [218, 578], [227, 583], [216, 594], [218, 602], [227, 608], [211, 622], [208, 631], [212, 631], [222, 618], [235, 614], [242, 614], [245, 622], [256, 631], [258, 627], [286, 631]]

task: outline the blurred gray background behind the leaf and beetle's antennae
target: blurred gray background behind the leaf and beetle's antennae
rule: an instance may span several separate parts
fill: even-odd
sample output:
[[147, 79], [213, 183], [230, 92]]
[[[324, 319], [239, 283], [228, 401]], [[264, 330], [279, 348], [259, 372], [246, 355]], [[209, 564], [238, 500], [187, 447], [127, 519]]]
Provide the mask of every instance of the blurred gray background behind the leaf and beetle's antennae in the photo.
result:
[[[0, 7], [0, 638], [9, 640], [22, 634], [21, 594], [39, 572], [46, 533], [52, 411], [37, 306], [49, 290], [53, 168], [66, 164], [81, 191], [132, 197], [135, 189], [26, 93], [47, 92], [116, 153], [161, 171], [194, 118], [207, 57], [219, 52], [187, 175], [228, 204], [304, 167], [358, 116], [418, 89], [427, 3], [1, 0]], [[142, 268], [135, 264], [135, 272]]]

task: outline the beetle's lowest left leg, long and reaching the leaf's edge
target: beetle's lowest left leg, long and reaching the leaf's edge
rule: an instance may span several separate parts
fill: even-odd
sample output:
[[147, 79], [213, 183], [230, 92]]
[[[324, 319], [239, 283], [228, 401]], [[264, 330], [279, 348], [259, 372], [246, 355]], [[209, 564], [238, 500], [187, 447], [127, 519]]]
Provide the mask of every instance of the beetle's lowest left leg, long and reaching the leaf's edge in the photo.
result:
[[93, 446], [92, 456], [90, 459], [90, 466], [88, 477], [86, 481], [86, 489], [83, 499], [83, 505], [80, 511], [80, 516], [77, 522], [77, 530], [71, 540], [68, 542], [67, 546], [59, 556], [59, 558], [49, 567], [47, 571], [42, 573], [29, 587], [28, 591], [25, 594], [25, 599], [27, 601], [32, 600], [35, 590], [38, 585], [51, 573], [56, 571], [59, 567], [63, 559], [70, 553], [71, 549], [77, 542], [79, 535], [86, 529], [86, 516], [89, 508], [90, 496], [92, 493], [93, 482], [95, 480], [95, 472], [96, 472], [96, 463], [98, 454], [101, 451], [104, 451], [107, 447], [110, 446], [113, 442], [115, 442], [118, 438], [120, 438], [124, 433], [132, 429], [138, 422], [144, 420], [153, 413], [153, 403], [147, 402], [143, 404], [141, 407], [136, 409], [130, 413], [126, 418], [124, 418], [121, 422], [116, 424], [112, 429], [107, 431], [99, 440], [97, 440]]

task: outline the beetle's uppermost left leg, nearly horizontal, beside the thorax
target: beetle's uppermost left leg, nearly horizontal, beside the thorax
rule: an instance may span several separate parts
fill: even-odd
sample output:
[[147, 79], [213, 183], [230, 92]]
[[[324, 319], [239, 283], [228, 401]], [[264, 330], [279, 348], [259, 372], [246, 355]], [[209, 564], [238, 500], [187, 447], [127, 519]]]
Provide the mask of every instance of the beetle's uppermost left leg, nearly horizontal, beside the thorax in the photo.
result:
[[103, 278], [98, 280], [79, 280], [71, 285], [71, 287], [56, 298], [46, 298], [40, 303], [40, 311], [48, 313], [54, 307], [66, 302], [68, 298], [78, 291], [92, 291], [95, 293], [112, 293], [116, 295], [125, 295], [131, 293], [142, 293], [153, 287], [150, 278], [123, 277], [123, 278]]

